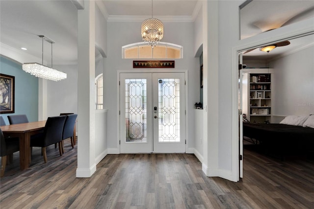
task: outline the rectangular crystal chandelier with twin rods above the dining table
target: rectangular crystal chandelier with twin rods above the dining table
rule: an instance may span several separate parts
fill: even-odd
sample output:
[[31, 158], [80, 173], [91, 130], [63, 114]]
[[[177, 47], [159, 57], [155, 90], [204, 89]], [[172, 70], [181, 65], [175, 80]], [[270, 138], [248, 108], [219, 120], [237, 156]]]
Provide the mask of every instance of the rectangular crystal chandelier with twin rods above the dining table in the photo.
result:
[[[42, 38], [42, 63], [44, 62], [44, 40], [51, 43], [51, 65], [52, 65], [52, 44], [54, 43], [51, 39], [39, 35], [40, 38]], [[43, 64], [39, 64], [37, 62], [31, 62], [31, 63], [24, 63], [22, 65], [22, 69], [33, 76], [39, 77], [39, 78], [45, 78], [49, 80], [62, 80], [67, 78], [67, 74], [58, 70], [53, 69], [52, 67], [47, 67]]]

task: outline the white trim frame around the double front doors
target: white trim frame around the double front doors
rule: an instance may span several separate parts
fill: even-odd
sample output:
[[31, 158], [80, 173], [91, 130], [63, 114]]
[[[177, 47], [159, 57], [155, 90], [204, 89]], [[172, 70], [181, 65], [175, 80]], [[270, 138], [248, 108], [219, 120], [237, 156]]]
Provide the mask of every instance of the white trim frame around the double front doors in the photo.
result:
[[117, 104], [118, 106], [118, 111], [116, 113], [117, 116], [117, 148], [120, 154], [120, 140], [121, 140], [121, 136], [120, 136], [120, 74], [121, 73], [184, 73], [184, 80], [185, 80], [185, 85], [184, 85], [184, 90], [185, 90], [185, 153], [189, 153], [188, 152], [188, 79], [187, 79], [187, 70], [169, 70], [169, 69], [132, 69], [132, 70], [117, 70]]

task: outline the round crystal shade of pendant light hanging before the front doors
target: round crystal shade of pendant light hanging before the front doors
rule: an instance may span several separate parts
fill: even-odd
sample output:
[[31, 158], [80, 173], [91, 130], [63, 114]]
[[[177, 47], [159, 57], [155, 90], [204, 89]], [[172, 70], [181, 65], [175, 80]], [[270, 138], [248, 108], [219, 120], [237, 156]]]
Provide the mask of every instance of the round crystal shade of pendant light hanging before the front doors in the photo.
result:
[[163, 23], [156, 18], [146, 19], [142, 23], [141, 32], [143, 41], [154, 47], [163, 37]]

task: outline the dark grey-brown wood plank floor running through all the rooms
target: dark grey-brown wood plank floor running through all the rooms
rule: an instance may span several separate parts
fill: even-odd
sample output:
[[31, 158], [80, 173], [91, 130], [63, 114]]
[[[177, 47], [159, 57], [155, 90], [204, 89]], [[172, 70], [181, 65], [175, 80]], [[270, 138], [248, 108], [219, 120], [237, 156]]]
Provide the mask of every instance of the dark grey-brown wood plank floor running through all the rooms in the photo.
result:
[[[79, 143], [79, 142], [78, 142]], [[1, 209], [302, 209], [314, 208], [314, 160], [281, 161], [244, 149], [244, 178], [209, 178], [192, 154], [107, 155], [91, 178], [76, 178], [77, 147], [47, 149], [44, 163], [33, 148], [31, 166], [19, 170], [19, 155], [0, 180]]]

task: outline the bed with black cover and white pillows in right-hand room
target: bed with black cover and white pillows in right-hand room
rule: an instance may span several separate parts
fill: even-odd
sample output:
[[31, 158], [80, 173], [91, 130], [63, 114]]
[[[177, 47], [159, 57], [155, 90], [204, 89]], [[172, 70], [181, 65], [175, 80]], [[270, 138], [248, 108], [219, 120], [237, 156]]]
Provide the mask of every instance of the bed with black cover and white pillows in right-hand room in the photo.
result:
[[309, 126], [305, 123], [308, 118], [288, 124], [288, 118], [279, 124], [243, 123], [243, 136], [261, 145], [264, 151], [281, 156], [311, 153], [314, 151], [314, 115], [310, 117]]

